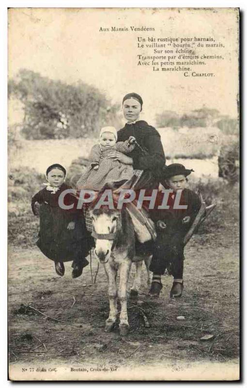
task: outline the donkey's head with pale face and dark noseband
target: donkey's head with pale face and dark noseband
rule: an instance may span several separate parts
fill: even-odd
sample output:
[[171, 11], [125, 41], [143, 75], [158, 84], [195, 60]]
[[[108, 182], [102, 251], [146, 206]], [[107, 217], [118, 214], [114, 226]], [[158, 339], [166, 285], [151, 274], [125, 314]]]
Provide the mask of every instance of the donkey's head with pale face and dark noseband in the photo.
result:
[[95, 238], [94, 253], [101, 263], [107, 263], [121, 223], [120, 210], [102, 206], [100, 209], [91, 209], [90, 215], [93, 220], [92, 236]]

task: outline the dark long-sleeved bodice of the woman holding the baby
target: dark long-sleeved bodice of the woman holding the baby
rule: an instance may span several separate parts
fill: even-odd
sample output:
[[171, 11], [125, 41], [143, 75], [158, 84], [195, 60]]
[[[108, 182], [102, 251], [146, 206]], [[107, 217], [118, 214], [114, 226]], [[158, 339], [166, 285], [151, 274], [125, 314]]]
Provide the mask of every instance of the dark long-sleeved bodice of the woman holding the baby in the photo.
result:
[[162, 167], [166, 163], [160, 134], [146, 121], [140, 120], [132, 124], [125, 124], [124, 128], [118, 131], [119, 142], [124, 142], [129, 136], [134, 136], [139, 145], [147, 152], [146, 155], [143, 155], [140, 148], [135, 146], [135, 149], [128, 154], [133, 159], [134, 170], [144, 170], [141, 182], [139, 181], [141, 186], [139, 188], [157, 188]]

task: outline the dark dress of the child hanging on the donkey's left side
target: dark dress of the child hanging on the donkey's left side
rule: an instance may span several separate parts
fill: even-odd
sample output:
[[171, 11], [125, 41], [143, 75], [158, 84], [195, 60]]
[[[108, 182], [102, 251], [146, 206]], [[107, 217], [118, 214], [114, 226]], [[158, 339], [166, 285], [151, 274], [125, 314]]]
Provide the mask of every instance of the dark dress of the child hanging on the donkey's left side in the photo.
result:
[[[40, 231], [36, 244], [41, 252], [53, 261], [77, 261], [85, 258], [89, 252], [88, 232], [84, 218], [80, 216], [80, 210], [76, 209], [77, 199], [73, 195], [67, 194], [64, 203], [66, 205], [73, 203], [74, 208], [63, 210], [59, 207], [59, 195], [66, 189], [70, 189], [70, 187], [64, 183], [55, 194], [51, 194], [44, 188], [31, 200], [34, 214], [35, 202], [40, 204]], [[75, 222], [73, 230], [67, 229], [71, 221]]]

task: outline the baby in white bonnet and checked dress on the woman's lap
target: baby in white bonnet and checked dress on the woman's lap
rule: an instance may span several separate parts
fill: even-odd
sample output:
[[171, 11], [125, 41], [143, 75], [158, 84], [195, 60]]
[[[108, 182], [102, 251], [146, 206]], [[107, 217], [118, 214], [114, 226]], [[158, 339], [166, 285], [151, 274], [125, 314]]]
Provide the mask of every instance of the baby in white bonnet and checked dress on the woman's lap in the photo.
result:
[[89, 155], [90, 166], [77, 182], [77, 190], [100, 191], [106, 184], [119, 187], [133, 175], [132, 165], [109, 158], [113, 150], [128, 154], [135, 147], [135, 138], [117, 143], [117, 130], [104, 127], [100, 131], [99, 143], [93, 146]]

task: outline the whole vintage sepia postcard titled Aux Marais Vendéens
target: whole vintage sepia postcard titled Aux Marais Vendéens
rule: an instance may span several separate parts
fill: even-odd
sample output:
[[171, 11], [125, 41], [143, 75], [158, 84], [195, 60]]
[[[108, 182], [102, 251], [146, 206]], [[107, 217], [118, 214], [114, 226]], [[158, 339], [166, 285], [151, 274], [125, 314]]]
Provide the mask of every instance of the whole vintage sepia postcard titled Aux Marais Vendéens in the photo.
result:
[[8, 10], [9, 379], [239, 380], [239, 9]]

